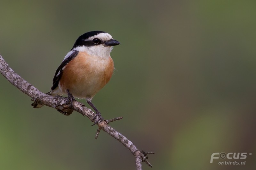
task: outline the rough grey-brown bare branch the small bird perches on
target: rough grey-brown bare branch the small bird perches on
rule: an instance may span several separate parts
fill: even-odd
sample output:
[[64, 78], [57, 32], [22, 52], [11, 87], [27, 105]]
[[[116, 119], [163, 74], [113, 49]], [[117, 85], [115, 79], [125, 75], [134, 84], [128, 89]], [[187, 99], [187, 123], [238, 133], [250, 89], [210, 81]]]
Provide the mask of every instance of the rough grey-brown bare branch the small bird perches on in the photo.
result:
[[[92, 112], [92, 110], [88, 109], [82, 103], [79, 103], [77, 101], [73, 101], [71, 108], [71, 104], [68, 102], [67, 97], [53, 97], [39, 91], [34, 86], [25, 81], [23, 78], [21, 78], [18, 74], [16, 74], [12, 70], [12, 68], [9, 67], [8, 64], [4, 61], [1, 55], [0, 72], [8, 81], [12, 83], [12, 85], [20, 89], [20, 91], [22, 91], [26, 95], [30, 96], [34, 101], [36, 101], [36, 103], [44, 104], [46, 106], [61, 110], [65, 113], [68, 112], [69, 114], [72, 113], [73, 110], [75, 110], [83, 116], [86, 116], [90, 120], [94, 121], [93, 118], [96, 114]], [[98, 123], [97, 125], [99, 126], [99, 129], [97, 130], [96, 136], [98, 137], [100, 130], [103, 130], [110, 136], [118, 140], [120, 143], [122, 143], [135, 156], [136, 170], [142, 170], [142, 162], [146, 162], [149, 166], [151, 166], [151, 164], [147, 160], [147, 154], [153, 152], [146, 153], [138, 150], [137, 147], [130, 140], [128, 140], [124, 135], [122, 135], [121, 133], [119, 133], [118, 131], [116, 131], [115, 129], [108, 125], [109, 122], [119, 119], [121, 118], [114, 118], [111, 120], [101, 121], [100, 123]], [[97, 138], [96, 136], [95, 138]]]

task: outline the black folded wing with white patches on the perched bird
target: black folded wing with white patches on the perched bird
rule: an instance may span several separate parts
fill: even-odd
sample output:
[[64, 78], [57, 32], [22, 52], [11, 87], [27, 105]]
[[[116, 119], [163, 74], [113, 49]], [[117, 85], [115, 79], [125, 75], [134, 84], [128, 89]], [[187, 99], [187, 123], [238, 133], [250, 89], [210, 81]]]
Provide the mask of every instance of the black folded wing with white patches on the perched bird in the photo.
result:
[[[69, 54], [70, 53], [70, 54]], [[74, 59], [77, 54], [78, 54], [78, 51], [76, 50], [72, 50], [70, 51], [64, 58], [64, 60], [62, 61], [62, 63], [60, 64], [60, 66], [57, 68], [56, 72], [55, 72], [55, 75], [53, 77], [53, 82], [52, 82], [52, 90], [56, 89], [59, 85], [59, 81], [60, 81], [60, 78], [61, 78], [61, 75], [62, 75], [62, 70], [63, 70], [63, 67], [65, 67], [69, 61], [71, 61], [72, 59]]]

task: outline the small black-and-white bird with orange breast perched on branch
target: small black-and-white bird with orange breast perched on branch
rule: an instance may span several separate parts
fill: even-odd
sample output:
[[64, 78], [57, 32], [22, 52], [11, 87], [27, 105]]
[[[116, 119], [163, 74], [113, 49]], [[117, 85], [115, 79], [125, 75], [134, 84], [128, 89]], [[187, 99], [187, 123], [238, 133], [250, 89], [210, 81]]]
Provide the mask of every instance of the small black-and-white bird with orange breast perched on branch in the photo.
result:
[[[85, 99], [96, 112], [93, 119], [98, 117], [94, 124], [102, 121], [99, 110], [91, 101], [113, 74], [114, 62], [110, 52], [113, 46], [119, 44], [119, 41], [103, 31], [86, 32], [79, 36], [57, 68], [51, 91], [46, 94], [50, 96], [72, 94], [72, 97]], [[36, 102], [31, 105], [34, 108], [43, 106]]]

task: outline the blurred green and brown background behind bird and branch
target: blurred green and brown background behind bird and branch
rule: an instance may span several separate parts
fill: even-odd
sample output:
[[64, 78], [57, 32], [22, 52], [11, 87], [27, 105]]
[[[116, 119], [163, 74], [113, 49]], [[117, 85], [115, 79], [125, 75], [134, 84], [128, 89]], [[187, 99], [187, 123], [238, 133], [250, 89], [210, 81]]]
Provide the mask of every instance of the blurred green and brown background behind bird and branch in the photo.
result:
[[[76, 38], [106, 31], [121, 42], [111, 53], [116, 71], [92, 102], [105, 119], [123, 116], [111, 126], [139, 149], [156, 152], [153, 169], [255, 169], [255, 7], [250, 0], [2, 0], [0, 53], [48, 92]], [[0, 169], [135, 169], [115, 139], [104, 132], [94, 139], [88, 118], [33, 109], [28, 96], [0, 82]], [[247, 152], [246, 165], [210, 163], [214, 152]]]

